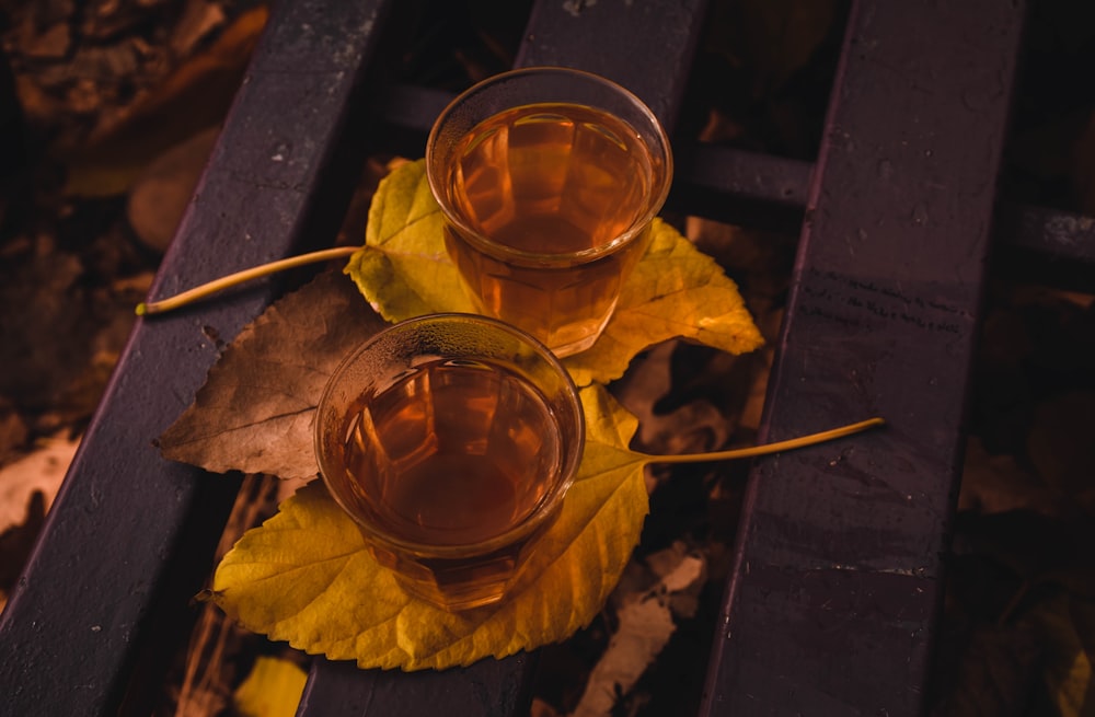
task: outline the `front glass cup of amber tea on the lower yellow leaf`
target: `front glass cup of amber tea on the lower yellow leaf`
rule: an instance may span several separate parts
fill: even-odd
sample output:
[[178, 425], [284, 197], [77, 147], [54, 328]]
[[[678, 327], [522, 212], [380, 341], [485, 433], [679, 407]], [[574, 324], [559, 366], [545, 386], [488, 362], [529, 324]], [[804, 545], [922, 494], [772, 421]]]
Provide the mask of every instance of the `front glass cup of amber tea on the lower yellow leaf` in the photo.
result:
[[320, 472], [372, 555], [452, 611], [503, 598], [562, 509], [584, 441], [577, 389], [552, 352], [471, 314], [368, 339], [315, 417]]

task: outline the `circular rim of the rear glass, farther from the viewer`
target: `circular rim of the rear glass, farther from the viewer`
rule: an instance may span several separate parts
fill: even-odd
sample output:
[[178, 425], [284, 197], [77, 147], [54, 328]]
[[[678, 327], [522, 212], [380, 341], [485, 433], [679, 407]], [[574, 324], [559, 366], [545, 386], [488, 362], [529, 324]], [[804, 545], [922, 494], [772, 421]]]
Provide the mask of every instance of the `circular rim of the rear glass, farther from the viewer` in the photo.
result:
[[[526, 77], [526, 76], [544, 76], [544, 74], [556, 74], [556, 76], [567, 76], [580, 79], [583, 82], [588, 82], [592, 84], [600, 85], [618, 95], [626, 103], [631, 104], [635, 109], [638, 111], [647, 124], [646, 128], [635, 127], [633, 123], [629, 120], [623, 120], [625, 125], [632, 127], [636, 132], [639, 132], [641, 139], [644, 144], [648, 148], [652, 147], [650, 142], [647, 141], [647, 134], [653, 136], [656, 140], [657, 147], [655, 149], [660, 149], [660, 152], [652, 152], [652, 154], [660, 154], [655, 158], [656, 163], [660, 163], [660, 172], [654, 175], [655, 182], [650, 186], [650, 201], [647, 203], [646, 209], [635, 218], [635, 220], [627, 227], [627, 229], [619, 232], [611, 241], [604, 242], [603, 244], [598, 244], [597, 246], [591, 246], [589, 248], [579, 250], [577, 252], [529, 252], [526, 250], [515, 248], [507, 244], [496, 242], [484, 233], [477, 231], [456, 212], [449, 201], [448, 193], [443, 190], [443, 180], [442, 177], [435, 176], [433, 171], [434, 167], [434, 154], [436, 153], [436, 148], [439, 144], [441, 128], [446, 119], [448, 119], [456, 109], [466, 103], [472, 97], [481, 94], [484, 91], [491, 90], [492, 88], [511, 81], [515, 78]], [[550, 104], [565, 104], [565, 101], [545, 101]], [[530, 103], [538, 104], [538, 103]], [[581, 103], [572, 103], [581, 104]], [[581, 106], [592, 106], [592, 105], [581, 105]], [[499, 109], [498, 112], [502, 112]], [[480, 122], [485, 120], [487, 117], [480, 118], [474, 123], [469, 129], [474, 127]], [[644, 129], [649, 130], [648, 132], [643, 131]], [[643, 102], [634, 92], [623, 86], [622, 84], [608, 79], [601, 74], [595, 72], [589, 72], [587, 70], [579, 70], [570, 67], [563, 66], [535, 66], [526, 67], [515, 70], [507, 70], [505, 72], [499, 72], [497, 74], [492, 74], [485, 78], [472, 86], [468, 88], [460, 94], [458, 94], [453, 100], [451, 100], [443, 109], [438, 114], [437, 119], [434, 120], [434, 125], [430, 127], [429, 136], [426, 138], [426, 181], [429, 184], [430, 194], [433, 194], [434, 199], [437, 201], [438, 206], [441, 208], [441, 213], [445, 215], [446, 219], [456, 225], [460, 230], [461, 238], [468, 240], [481, 251], [494, 256], [495, 258], [502, 261], [515, 262], [518, 264], [523, 264], [527, 266], [546, 266], [562, 265], [572, 266], [575, 264], [587, 264], [589, 262], [601, 258], [609, 254], [614, 253], [619, 248], [625, 246], [635, 240], [654, 220], [654, 218], [661, 211], [661, 208], [666, 204], [666, 199], [669, 196], [669, 189], [672, 185], [673, 180], [673, 154], [672, 148], [669, 143], [669, 136], [666, 132], [665, 127], [662, 127], [661, 122], [658, 119], [654, 111]]]

